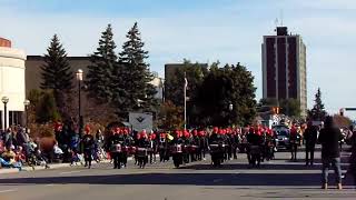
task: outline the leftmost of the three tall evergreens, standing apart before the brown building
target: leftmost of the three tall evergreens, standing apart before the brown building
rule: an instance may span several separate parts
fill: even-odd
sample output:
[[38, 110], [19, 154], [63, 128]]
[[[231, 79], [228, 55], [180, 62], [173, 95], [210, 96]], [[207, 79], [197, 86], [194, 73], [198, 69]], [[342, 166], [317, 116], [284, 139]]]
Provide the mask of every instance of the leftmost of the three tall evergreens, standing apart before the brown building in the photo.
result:
[[60, 43], [57, 34], [51, 39], [50, 46], [44, 54], [44, 64], [42, 70], [41, 89], [52, 90], [57, 107], [61, 114], [66, 114], [62, 108], [66, 108], [66, 96], [72, 89], [73, 73], [67, 60], [67, 53]]

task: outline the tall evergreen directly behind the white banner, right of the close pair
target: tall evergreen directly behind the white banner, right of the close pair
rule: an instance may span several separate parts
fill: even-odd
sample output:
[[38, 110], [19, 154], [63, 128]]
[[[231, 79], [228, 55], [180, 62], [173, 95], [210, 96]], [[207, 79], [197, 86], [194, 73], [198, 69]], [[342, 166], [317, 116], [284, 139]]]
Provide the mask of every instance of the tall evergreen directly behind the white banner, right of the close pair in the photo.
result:
[[[157, 106], [156, 89], [150, 83], [154, 76], [146, 63], [148, 51], [138, 30], [137, 22], [127, 33], [127, 41], [119, 53], [119, 67], [113, 71], [113, 102], [119, 110], [118, 114], [127, 116], [128, 111], [138, 109], [152, 111]], [[142, 101], [138, 103], [139, 101]]]

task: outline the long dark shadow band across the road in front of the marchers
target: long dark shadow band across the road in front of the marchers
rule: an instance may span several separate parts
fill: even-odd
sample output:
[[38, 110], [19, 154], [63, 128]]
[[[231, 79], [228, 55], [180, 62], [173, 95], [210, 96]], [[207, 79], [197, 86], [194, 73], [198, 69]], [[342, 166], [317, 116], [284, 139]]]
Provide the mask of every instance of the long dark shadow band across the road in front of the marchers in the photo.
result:
[[[330, 180], [333, 180], [330, 174]], [[1, 184], [320, 186], [319, 173], [139, 173], [0, 179]]]

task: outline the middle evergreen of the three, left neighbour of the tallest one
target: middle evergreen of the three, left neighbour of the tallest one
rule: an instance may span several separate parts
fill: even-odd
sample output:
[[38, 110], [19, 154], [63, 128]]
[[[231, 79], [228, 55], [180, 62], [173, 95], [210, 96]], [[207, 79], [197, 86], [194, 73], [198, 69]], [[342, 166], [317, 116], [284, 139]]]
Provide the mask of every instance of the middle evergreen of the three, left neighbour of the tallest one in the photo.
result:
[[86, 83], [89, 97], [99, 102], [108, 102], [112, 97], [112, 72], [117, 68], [116, 44], [112, 39], [111, 24], [101, 32], [99, 47], [90, 57]]

